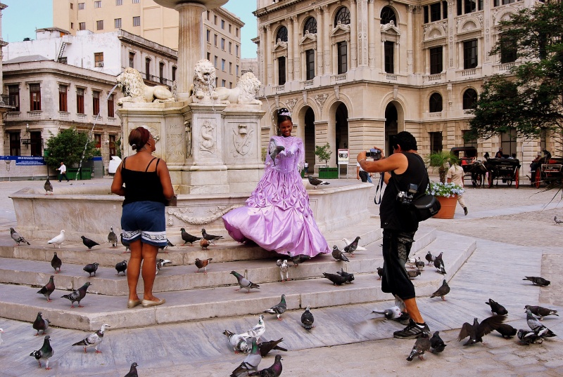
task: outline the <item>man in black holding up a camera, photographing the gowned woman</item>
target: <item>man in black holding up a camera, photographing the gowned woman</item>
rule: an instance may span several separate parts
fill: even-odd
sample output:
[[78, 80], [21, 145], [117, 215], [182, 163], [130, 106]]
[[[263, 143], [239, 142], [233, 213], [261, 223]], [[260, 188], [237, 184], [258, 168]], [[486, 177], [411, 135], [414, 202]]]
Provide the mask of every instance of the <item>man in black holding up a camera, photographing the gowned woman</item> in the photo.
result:
[[[384, 275], [381, 279], [381, 291], [393, 293], [393, 296], [405, 302], [407, 312], [400, 317], [406, 324], [405, 329], [395, 331], [393, 336], [400, 339], [414, 339], [429, 333], [430, 329], [422, 319], [415, 298], [415, 286], [407, 276], [405, 263], [410, 254], [413, 238], [418, 229], [418, 221], [408, 215], [402, 203], [403, 198], [417, 197], [424, 194], [429, 178], [424, 161], [417, 153], [417, 140], [403, 131], [391, 137], [393, 154], [367, 161], [366, 152], [358, 154], [358, 163], [369, 173], [384, 173], [386, 190], [379, 206], [381, 228], [383, 228]], [[413, 187], [413, 185], [418, 185]]]

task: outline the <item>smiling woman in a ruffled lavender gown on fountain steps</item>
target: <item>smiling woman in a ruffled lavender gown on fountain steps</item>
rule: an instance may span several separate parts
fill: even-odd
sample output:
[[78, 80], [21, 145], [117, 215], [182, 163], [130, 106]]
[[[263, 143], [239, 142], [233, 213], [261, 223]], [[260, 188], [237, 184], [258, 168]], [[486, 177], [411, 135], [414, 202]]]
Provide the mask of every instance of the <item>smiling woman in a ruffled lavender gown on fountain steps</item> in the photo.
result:
[[246, 206], [223, 216], [224, 227], [236, 241], [251, 240], [262, 249], [280, 254], [329, 253], [301, 180], [305, 163], [303, 141], [291, 136], [289, 110], [279, 109], [277, 120], [281, 136], [270, 138], [264, 176], [246, 200]]

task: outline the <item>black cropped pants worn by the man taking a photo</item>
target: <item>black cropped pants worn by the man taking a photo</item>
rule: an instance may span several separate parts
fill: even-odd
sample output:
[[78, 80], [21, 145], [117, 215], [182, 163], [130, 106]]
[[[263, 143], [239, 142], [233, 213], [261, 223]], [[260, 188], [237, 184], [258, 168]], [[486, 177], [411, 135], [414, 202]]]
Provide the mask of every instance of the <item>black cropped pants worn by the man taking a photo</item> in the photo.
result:
[[403, 300], [415, 298], [415, 286], [410, 281], [405, 263], [409, 258], [415, 232], [383, 230], [383, 270], [381, 291], [393, 293]]

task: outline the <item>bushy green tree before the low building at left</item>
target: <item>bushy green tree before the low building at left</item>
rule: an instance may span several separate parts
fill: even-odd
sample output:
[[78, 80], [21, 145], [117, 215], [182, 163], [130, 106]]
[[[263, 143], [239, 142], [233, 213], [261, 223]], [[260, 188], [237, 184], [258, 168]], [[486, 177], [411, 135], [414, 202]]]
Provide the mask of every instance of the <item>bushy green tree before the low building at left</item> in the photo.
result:
[[96, 143], [89, 140], [87, 133], [78, 132], [76, 128], [71, 127], [62, 130], [58, 135], [53, 135], [51, 131], [49, 134], [51, 137], [47, 140], [46, 147], [49, 156], [45, 157], [45, 161], [51, 167], [60, 166], [61, 161], [72, 166], [78, 164], [80, 159], [89, 159], [94, 155]]

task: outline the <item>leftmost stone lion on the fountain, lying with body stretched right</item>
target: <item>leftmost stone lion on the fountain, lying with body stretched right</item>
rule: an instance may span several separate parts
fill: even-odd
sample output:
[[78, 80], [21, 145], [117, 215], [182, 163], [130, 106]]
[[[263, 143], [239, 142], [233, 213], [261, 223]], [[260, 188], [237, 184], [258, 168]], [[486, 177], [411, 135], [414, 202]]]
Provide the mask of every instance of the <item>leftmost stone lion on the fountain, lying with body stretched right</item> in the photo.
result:
[[117, 81], [123, 95], [125, 95], [125, 97], [118, 100], [118, 105], [123, 105], [123, 102], [165, 102], [174, 100], [172, 92], [166, 86], [146, 86], [143, 77], [134, 68], [125, 68], [125, 71], [119, 74]]

